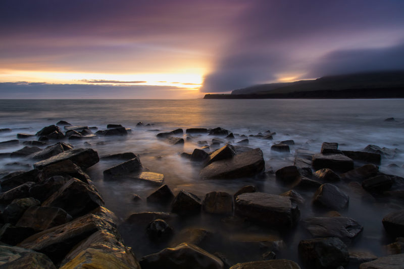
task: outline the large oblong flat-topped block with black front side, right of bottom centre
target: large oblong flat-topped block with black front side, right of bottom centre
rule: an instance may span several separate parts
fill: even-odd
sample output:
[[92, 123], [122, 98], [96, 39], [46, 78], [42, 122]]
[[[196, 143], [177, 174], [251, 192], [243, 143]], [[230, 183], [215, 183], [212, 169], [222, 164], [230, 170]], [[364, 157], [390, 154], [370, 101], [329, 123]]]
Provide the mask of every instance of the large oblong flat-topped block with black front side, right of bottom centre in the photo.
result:
[[252, 221], [285, 228], [293, 227], [300, 218], [299, 208], [288, 197], [262, 192], [238, 195], [234, 210]]

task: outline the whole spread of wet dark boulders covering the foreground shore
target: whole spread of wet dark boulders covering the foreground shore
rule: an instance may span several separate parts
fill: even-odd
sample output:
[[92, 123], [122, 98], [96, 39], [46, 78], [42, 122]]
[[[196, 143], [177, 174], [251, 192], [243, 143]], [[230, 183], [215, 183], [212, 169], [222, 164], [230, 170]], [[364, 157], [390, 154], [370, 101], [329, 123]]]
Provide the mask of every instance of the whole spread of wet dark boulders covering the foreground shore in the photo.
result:
[[[152, 125], [138, 123], [137, 126], [151, 128]], [[11, 132], [11, 129], [0, 129], [0, 132]], [[404, 264], [403, 208], [391, 210], [385, 216], [374, 216], [380, 219], [391, 237], [391, 242], [385, 246], [385, 256], [355, 252], [349, 246], [361, 240], [366, 223], [342, 216], [343, 210], [350, 206], [350, 197], [338, 187], [344, 185], [354, 189], [364, 200], [392, 197], [402, 202], [404, 179], [384, 174], [378, 167], [383, 158], [395, 154], [392, 149], [368, 145], [362, 151], [345, 151], [340, 150], [337, 143], [324, 142], [319, 153], [296, 150], [293, 166], [266, 171], [262, 150], [247, 147], [248, 137], [229, 130], [189, 128], [185, 132], [176, 129], [158, 133], [156, 139], [172, 146], [195, 140], [200, 134], [213, 138], [210, 145], [207, 141], [199, 141], [199, 148], [181, 154], [200, 169], [201, 181], [273, 175], [277, 184], [289, 189], [284, 193], [269, 194], [257, 191], [255, 186], [244, 186], [234, 194], [213, 191], [201, 199], [185, 190], [174, 194], [164, 184], [164, 175], [145, 168], [135, 153], [98, 156], [91, 148], [90, 142], [94, 138], [131, 133], [131, 129], [119, 124], [96, 130], [60, 121], [35, 135], [19, 133], [17, 139], [0, 142], [2, 149], [24, 145], [19, 150], [0, 153], [0, 157], [25, 158], [33, 165], [32, 170], [10, 171], [0, 179], [0, 203], [4, 206], [0, 229], [1, 268], [252, 269], [301, 266], [366, 269], [401, 268]], [[272, 140], [275, 135], [267, 131], [255, 137]], [[88, 148], [74, 148], [69, 141], [86, 141]], [[288, 154], [289, 146], [293, 144], [293, 140], [274, 143], [271, 151]], [[164, 204], [169, 211], [136, 212], [121, 223], [104, 207], [102, 193], [86, 173], [86, 169], [100, 159], [115, 162], [104, 170], [104, 181], [119, 182], [127, 177], [134, 182], [152, 184], [156, 190], [146, 198], [147, 202]], [[311, 201], [299, 194], [301, 191], [311, 193]], [[307, 209], [302, 205], [307, 203], [322, 213], [301, 220], [301, 210]], [[235, 233], [230, 238], [234, 247], [241, 245], [241, 249], [256, 251], [262, 254], [262, 260], [234, 264], [220, 249], [211, 253], [204, 248], [205, 241], [213, 236], [210, 231], [189, 227], [179, 231], [181, 225], [178, 223], [202, 212], [220, 216], [229, 229], [252, 224], [270, 227], [280, 236], [254, 237]], [[161, 246], [161, 250], [136, 258], [122, 239], [119, 232], [122, 227], [133, 234], [144, 234], [147, 240]], [[297, 245], [288, 246], [298, 249], [298, 263], [276, 259], [286, 248], [282, 236], [294, 229], [304, 229], [309, 235]]]

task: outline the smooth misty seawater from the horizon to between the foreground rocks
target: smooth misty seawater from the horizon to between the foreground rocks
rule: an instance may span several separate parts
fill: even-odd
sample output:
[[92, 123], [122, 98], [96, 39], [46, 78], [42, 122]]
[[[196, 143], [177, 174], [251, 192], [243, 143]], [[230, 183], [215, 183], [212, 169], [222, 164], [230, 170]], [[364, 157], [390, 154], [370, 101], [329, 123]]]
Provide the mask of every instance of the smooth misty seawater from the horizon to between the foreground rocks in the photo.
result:
[[[393, 122], [384, 121], [394, 117]], [[0, 100], [0, 129], [11, 128], [11, 133], [0, 133], [0, 141], [16, 139], [17, 133], [35, 134], [44, 126], [65, 120], [73, 125], [95, 126], [106, 129], [107, 124], [122, 124], [132, 129], [127, 137], [99, 137], [92, 140], [74, 141], [75, 148], [91, 147], [100, 156], [120, 152], [134, 152], [140, 156], [144, 167], [152, 172], [164, 174], [165, 182], [176, 194], [179, 190], [190, 191], [200, 198], [211, 191], [235, 193], [244, 185], [255, 185], [259, 191], [280, 194], [288, 190], [279, 185], [272, 175], [240, 180], [201, 180], [200, 167], [181, 158], [181, 152], [191, 153], [200, 148], [198, 141], [210, 141], [215, 136], [192, 135], [191, 141], [183, 146], [172, 146], [156, 138], [159, 132], [177, 128], [222, 127], [239, 135], [256, 135], [267, 130], [276, 132], [274, 140], [248, 137], [252, 148], [261, 148], [264, 153], [266, 170], [276, 171], [292, 165], [296, 149], [319, 152], [322, 142], [338, 142], [342, 150], [362, 150], [369, 144], [396, 149], [393, 158], [383, 158], [380, 171], [404, 177], [404, 99], [259, 99], [259, 100]], [[138, 122], [150, 124], [136, 127]], [[156, 131], [158, 130], [158, 131]], [[184, 136], [186, 136], [184, 134]], [[185, 137], [184, 137], [185, 138]], [[220, 138], [220, 137], [219, 137]], [[222, 137], [221, 139], [224, 140]], [[236, 135], [233, 144], [241, 140]], [[271, 152], [272, 144], [293, 139], [290, 154]], [[88, 142], [91, 144], [84, 144]], [[97, 142], [104, 142], [98, 143]], [[12, 152], [23, 145], [2, 147], [1, 152]], [[29, 168], [12, 163], [29, 165]], [[0, 158], [0, 173], [31, 169], [32, 160], [25, 158]], [[147, 204], [146, 197], [157, 189], [156, 186], [129, 179], [104, 181], [103, 171], [116, 161], [100, 161], [87, 170], [94, 184], [102, 193], [106, 207], [124, 220], [132, 212], [165, 211], [169, 206]], [[395, 164], [396, 166], [391, 166]], [[383, 255], [383, 245], [393, 242], [383, 229], [383, 216], [404, 206], [400, 201], [376, 199], [363, 202], [344, 183], [337, 184], [350, 196], [349, 207], [340, 211], [342, 216], [355, 219], [364, 226], [360, 237], [349, 246], [350, 249], [368, 250]], [[300, 206], [301, 219], [322, 216], [316, 211], [311, 199], [313, 191], [299, 191], [306, 198]], [[142, 201], [132, 201], [138, 194]], [[187, 227], [208, 229], [215, 238], [207, 246], [210, 252], [220, 251], [233, 262], [261, 259], [262, 253], [244, 253], [233, 249], [226, 238], [234, 233], [277, 233], [263, 227], [242, 227], [229, 230], [223, 216], [201, 213], [194, 218], [181, 220], [175, 232]], [[133, 247], [138, 258], [159, 251], [168, 245], [154, 245], [139, 234], [121, 227], [125, 242]], [[288, 234], [279, 236], [286, 247], [277, 253], [278, 258], [298, 260], [297, 244], [301, 239], [310, 238], [300, 226]], [[263, 252], [265, 252], [263, 250]], [[244, 254], [242, 254], [244, 253]]]

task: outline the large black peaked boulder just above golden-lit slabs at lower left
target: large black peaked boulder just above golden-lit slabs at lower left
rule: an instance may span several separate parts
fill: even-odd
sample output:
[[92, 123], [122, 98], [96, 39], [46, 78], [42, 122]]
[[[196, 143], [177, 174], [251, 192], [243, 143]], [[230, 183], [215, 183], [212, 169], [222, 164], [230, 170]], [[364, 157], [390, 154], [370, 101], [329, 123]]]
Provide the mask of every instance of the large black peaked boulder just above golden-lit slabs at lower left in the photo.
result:
[[69, 180], [42, 203], [42, 206], [60, 207], [73, 218], [83, 216], [102, 205], [104, 205], [103, 198], [88, 184], [76, 178]]

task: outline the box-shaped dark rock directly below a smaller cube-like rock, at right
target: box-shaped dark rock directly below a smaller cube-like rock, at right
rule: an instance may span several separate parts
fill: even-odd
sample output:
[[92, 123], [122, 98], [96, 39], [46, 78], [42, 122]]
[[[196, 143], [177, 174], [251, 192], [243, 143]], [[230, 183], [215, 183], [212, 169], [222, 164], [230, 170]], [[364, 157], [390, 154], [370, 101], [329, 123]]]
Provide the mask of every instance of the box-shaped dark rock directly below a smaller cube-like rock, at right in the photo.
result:
[[354, 169], [354, 161], [342, 154], [314, 154], [313, 167], [317, 170], [329, 168], [333, 171], [347, 172]]

